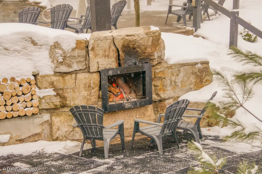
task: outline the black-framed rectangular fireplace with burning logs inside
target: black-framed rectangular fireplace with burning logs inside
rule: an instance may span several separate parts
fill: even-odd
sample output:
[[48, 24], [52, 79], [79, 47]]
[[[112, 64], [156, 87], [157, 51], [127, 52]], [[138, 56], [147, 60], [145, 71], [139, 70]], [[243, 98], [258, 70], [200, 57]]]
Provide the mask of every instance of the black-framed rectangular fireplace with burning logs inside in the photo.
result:
[[152, 105], [151, 63], [101, 70], [105, 112]]

